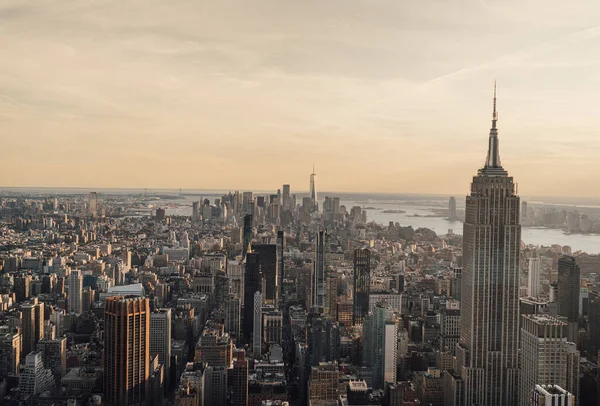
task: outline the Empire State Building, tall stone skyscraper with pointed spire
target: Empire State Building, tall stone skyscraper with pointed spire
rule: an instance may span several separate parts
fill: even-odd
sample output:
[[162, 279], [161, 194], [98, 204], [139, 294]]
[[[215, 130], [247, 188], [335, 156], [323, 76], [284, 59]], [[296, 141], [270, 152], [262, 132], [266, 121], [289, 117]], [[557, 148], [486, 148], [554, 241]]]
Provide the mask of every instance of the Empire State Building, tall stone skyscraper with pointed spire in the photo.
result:
[[519, 196], [500, 163], [496, 86], [487, 159], [471, 183], [463, 229], [459, 373], [464, 404], [516, 405]]

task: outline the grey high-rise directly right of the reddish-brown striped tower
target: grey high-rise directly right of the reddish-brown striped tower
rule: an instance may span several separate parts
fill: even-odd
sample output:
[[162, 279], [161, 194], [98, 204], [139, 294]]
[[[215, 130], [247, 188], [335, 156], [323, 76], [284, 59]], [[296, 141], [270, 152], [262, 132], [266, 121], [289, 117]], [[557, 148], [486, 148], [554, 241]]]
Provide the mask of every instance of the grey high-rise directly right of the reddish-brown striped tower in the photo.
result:
[[150, 313], [150, 357], [158, 354], [158, 362], [165, 369], [165, 387], [170, 386], [171, 375], [171, 309], [156, 309]]

